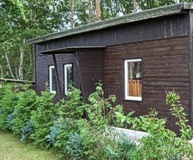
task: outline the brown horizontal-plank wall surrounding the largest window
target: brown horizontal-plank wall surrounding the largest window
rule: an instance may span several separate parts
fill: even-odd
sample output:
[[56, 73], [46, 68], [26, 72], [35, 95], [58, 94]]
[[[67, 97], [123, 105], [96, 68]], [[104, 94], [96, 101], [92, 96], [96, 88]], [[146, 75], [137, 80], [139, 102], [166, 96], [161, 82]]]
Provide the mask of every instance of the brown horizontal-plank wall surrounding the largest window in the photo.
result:
[[[124, 59], [142, 58], [143, 101], [124, 100]], [[115, 94], [126, 112], [144, 115], [155, 108], [175, 129], [175, 119], [165, 104], [166, 90], [181, 96], [189, 113], [189, 39], [188, 37], [109, 46], [104, 51], [105, 93]]]

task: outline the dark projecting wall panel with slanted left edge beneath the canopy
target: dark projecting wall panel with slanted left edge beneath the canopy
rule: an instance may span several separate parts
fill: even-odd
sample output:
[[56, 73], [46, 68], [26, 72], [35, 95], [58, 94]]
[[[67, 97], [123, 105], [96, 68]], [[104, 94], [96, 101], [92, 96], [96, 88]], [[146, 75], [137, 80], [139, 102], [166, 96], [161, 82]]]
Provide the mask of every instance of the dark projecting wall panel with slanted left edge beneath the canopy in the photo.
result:
[[81, 89], [85, 99], [95, 91], [96, 83], [103, 81], [103, 50], [77, 51]]

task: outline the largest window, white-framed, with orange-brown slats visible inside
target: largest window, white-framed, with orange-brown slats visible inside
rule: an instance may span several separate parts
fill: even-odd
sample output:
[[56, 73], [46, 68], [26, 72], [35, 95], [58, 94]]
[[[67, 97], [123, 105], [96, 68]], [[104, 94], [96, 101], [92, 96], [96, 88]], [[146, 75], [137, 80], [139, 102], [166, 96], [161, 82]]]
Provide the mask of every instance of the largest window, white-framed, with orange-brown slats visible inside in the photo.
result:
[[125, 99], [142, 100], [142, 59], [124, 60]]

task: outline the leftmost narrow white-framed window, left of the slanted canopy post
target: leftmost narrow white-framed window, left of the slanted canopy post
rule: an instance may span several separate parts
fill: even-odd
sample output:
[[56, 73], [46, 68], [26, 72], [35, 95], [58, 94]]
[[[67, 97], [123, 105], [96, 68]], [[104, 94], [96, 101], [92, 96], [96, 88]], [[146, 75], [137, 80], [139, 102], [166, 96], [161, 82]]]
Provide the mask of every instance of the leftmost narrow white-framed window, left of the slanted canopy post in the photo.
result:
[[56, 93], [57, 83], [56, 83], [56, 71], [54, 66], [49, 66], [49, 86], [50, 92]]

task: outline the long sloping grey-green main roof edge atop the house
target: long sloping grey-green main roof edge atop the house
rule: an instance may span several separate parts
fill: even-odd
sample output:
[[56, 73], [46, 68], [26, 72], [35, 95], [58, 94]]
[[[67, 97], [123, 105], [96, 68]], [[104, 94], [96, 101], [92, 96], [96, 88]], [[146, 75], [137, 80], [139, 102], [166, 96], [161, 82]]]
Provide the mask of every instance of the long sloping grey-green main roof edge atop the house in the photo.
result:
[[131, 13], [121, 17], [116, 17], [116, 18], [103, 20], [100, 22], [90, 23], [84, 26], [79, 26], [65, 31], [55, 32], [52, 34], [47, 34], [44, 36], [33, 38], [28, 40], [28, 43], [29, 44], [42, 43], [45, 41], [59, 39], [67, 36], [85, 33], [85, 32], [91, 32], [95, 30], [101, 30], [101, 29], [105, 29], [113, 26], [118, 26], [121, 24], [137, 22], [141, 20], [163, 17], [163, 16], [168, 16], [173, 14], [186, 13], [185, 12], [186, 9], [193, 9], [193, 4], [180, 3], [180, 4], [174, 4], [174, 5], [169, 5], [169, 6], [159, 7], [159, 8], [153, 8], [153, 9], [149, 9], [149, 10], [145, 10], [137, 13]]

